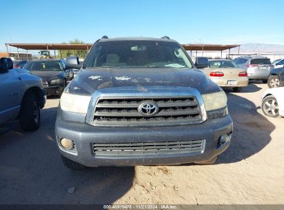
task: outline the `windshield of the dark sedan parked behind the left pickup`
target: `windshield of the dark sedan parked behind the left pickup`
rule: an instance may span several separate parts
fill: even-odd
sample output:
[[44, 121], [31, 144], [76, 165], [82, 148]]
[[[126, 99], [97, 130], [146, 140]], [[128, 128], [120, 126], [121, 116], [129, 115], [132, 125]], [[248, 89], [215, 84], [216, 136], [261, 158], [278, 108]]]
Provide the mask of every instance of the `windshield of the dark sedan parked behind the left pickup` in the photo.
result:
[[62, 70], [59, 61], [30, 61], [28, 64], [26, 64], [25, 69], [30, 71]]

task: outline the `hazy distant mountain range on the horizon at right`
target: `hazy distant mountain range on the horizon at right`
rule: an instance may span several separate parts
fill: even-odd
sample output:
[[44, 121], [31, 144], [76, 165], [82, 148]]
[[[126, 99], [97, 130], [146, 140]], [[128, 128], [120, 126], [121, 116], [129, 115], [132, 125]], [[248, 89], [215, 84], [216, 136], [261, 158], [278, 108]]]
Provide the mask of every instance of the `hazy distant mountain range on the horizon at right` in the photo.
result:
[[[237, 52], [238, 48], [234, 48], [231, 51]], [[241, 53], [284, 53], [284, 45], [280, 44], [259, 44], [249, 43], [240, 45]]]

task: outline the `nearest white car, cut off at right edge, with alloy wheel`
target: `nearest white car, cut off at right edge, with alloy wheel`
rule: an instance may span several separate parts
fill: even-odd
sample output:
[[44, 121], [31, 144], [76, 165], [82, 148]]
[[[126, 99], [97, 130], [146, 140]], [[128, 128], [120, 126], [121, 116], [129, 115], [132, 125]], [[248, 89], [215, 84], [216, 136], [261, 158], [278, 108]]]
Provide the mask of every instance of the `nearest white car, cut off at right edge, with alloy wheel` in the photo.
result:
[[261, 97], [263, 113], [269, 117], [284, 117], [284, 87], [265, 90]]

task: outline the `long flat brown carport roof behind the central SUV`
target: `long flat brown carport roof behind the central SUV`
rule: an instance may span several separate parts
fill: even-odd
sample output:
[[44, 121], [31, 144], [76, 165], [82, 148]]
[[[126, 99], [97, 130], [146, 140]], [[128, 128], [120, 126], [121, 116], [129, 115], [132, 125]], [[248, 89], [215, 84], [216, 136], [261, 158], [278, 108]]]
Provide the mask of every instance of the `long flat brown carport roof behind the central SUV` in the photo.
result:
[[[88, 50], [93, 44], [6, 44], [24, 50]], [[223, 51], [240, 45], [182, 44], [185, 50]]]

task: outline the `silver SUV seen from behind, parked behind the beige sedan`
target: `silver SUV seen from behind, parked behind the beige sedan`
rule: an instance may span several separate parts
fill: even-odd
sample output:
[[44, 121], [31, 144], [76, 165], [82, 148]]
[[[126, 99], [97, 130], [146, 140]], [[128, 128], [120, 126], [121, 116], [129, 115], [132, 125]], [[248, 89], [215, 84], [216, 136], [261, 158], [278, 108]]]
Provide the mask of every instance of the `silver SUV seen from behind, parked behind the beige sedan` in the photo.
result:
[[263, 83], [267, 83], [269, 72], [274, 68], [267, 57], [238, 57], [234, 63], [247, 71], [249, 79], [263, 80]]

